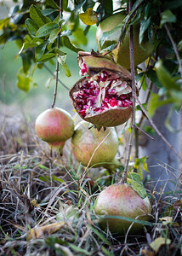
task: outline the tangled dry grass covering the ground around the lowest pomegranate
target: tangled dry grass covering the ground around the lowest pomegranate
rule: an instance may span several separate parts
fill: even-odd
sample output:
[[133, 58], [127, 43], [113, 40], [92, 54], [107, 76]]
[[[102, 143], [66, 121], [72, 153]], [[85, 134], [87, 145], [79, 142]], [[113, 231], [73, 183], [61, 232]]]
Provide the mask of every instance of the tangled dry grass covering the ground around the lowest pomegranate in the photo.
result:
[[151, 226], [136, 236], [112, 236], [100, 230], [93, 209], [100, 189], [116, 177], [100, 170], [94, 180], [82, 179], [69, 144], [62, 157], [51, 158], [26, 119], [2, 116], [0, 124], [0, 255], [182, 253], [180, 191], [149, 189]]

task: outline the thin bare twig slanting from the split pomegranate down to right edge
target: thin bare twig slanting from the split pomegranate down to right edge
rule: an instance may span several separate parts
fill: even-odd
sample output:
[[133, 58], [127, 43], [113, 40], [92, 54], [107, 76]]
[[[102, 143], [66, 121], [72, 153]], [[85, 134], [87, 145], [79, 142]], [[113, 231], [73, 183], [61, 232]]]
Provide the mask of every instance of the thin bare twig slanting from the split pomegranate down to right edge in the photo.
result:
[[146, 111], [145, 111], [145, 108], [143, 107], [143, 105], [141, 104], [141, 102], [139, 102], [139, 98], [138, 98], [136, 95], [135, 95], [134, 97], [135, 97], [136, 102], [139, 103], [139, 107], [140, 107], [140, 108], [142, 109], [142, 111], [145, 113], [146, 118], [147, 118], [147, 119], [149, 120], [149, 122], [151, 123], [151, 126], [152, 126], [152, 127], [154, 128], [154, 130], [156, 131], [156, 134], [157, 134], [159, 137], [161, 137], [162, 141], [167, 144], [168, 148], [170, 148], [170, 149], [173, 151], [173, 153], [176, 154], [176, 155], [179, 157], [180, 160], [182, 160], [182, 158], [181, 158], [181, 156], [178, 154], [178, 152], [173, 148], [173, 146], [168, 142], [168, 140], [167, 140], [165, 137], [163, 137], [161, 131], [158, 130], [158, 128], [156, 127], [156, 125], [153, 123], [152, 119], [148, 116], [148, 114], [147, 114]]

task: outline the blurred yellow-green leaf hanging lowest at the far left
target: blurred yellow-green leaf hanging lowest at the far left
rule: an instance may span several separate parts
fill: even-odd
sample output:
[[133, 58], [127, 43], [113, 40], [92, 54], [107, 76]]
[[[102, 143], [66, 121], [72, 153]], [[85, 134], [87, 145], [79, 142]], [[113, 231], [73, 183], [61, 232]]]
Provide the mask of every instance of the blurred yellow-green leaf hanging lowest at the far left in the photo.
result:
[[25, 90], [26, 92], [29, 91], [30, 89], [30, 84], [31, 84], [31, 77], [29, 76], [28, 73], [23, 72], [23, 68], [21, 67], [19, 72], [17, 73], [17, 83], [16, 85], [20, 90]]

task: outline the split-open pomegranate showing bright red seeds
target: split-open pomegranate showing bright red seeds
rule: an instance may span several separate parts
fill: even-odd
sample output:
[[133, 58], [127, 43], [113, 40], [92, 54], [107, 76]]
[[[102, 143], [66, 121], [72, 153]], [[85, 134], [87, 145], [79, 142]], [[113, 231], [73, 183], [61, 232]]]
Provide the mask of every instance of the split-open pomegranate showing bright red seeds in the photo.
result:
[[79, 52], [80, 74], [69, 95], [80, 117], [94, 125], [122, 125], [133, 111], [131, 76], [128, 70], [105, 57]]

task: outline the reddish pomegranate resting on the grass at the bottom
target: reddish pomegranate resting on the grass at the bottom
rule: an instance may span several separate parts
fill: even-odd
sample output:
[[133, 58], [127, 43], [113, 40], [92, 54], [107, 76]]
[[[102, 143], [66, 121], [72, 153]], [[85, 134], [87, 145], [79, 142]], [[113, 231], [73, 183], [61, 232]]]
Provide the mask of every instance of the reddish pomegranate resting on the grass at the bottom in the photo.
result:
[[[149, 220], [150, 216], [147, 214], [151, 214], [151, 203], [148, 197], [141, 198], [127, 183], [112, 184], [100, 193], [94, 211], [102, 217], [109, 215]], [[124, 235], [132, 222], [119, 218], [106, 218], [105, 216], [105, 218], [100, 218], [99, 224], [103, 230], [109, 227], [111, 233]], [[134, 223], [129, 234], [136, 234], [142, 230], [142, 227], [142, 224]]]

